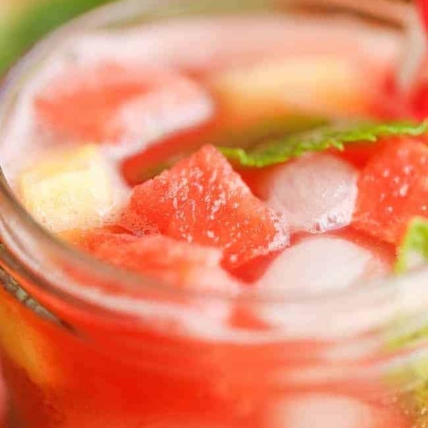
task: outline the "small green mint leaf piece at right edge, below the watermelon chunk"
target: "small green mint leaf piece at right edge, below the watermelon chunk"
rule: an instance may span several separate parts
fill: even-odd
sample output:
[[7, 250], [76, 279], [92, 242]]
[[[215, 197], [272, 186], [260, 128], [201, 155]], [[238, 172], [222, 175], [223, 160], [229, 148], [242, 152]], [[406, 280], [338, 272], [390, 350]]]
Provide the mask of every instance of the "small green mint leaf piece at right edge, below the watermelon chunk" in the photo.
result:
[[406, 272], [414, 265], [428, 263], [428, 220], [414, 218], [398, 250], [395, 272]]

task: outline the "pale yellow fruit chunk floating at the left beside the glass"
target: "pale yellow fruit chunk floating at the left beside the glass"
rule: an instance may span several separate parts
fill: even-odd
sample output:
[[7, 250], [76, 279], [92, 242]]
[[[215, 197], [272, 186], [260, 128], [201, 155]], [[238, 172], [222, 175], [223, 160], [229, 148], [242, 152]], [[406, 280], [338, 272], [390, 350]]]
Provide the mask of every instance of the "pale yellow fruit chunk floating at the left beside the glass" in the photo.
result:
[[93, 145], [51, 154], [25, 170], [19, 180], [24, 205], [53, 233], [101, 225], [117, 208], [120, 188]]

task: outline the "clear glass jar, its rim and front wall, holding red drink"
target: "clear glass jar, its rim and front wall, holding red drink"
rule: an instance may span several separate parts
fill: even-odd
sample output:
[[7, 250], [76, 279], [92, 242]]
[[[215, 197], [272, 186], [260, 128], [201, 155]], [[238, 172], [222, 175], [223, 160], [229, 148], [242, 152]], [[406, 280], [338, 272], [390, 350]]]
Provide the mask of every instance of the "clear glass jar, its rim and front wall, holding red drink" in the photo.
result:
[[[11, 144], [6, 128], [22, 88], [76, 34], [237, 12], [310, 16], [325, 31], [346, 15], [351, 34], [370, 25], [400, 41], [412, 7], [380, 0], [112, 4], [56, 31], [11, 71], [1, 93], [1, 151]], [[427, 269], [316, 297], [177, 290], [66, 247], [32, 220], [4, 175], [0, 236], [0, 346], [12, 426], [428, 426]]]

